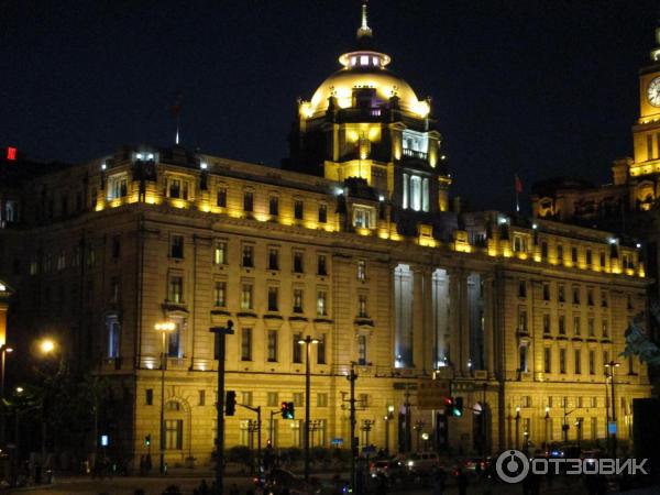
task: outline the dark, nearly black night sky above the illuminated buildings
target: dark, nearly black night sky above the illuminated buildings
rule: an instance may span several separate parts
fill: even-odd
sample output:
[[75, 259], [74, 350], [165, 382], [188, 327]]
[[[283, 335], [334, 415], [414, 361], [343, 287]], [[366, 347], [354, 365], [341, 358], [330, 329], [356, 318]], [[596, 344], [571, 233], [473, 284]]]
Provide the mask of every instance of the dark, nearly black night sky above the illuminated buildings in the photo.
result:
[[[609, 179], [631, 152], [656, 0], [372, 0], [389, 66], [433, 97], [454, 193], [512, 207], [513, 175]], [[352, 45], [358, 0], [0, 0], [0, 144], [84, 161], [173, 141], [278, 165], [298, 96]]]

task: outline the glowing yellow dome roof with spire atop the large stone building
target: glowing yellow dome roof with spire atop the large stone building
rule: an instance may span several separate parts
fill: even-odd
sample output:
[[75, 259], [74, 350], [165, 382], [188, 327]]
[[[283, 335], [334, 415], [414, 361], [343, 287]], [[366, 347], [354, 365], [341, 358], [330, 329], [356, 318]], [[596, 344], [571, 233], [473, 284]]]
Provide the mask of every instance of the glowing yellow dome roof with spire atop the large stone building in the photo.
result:
[[416, 113], [417, 117], [427, 117], [430, 111], [428, 101], [418, 100], [408, 82], [385, 68], [389, 61], [389, 55], [373, 47], [373, 32], [366, 22], [364, 3], [362, 25], [358, 30], [358, 47], [339, 57], [343, 68], [328, 77], [315, 91], [310, 101], [300, 103], [300, 113], [306, 118], [324, 113], [330, 97], [337, 98], [340, 108], [349, 108], [352, 106], [354, 88], [373, 88], [377, 100], [373, 102], [373, 107], [387, 103], [393, 96], [397, 96], [402, 110]]

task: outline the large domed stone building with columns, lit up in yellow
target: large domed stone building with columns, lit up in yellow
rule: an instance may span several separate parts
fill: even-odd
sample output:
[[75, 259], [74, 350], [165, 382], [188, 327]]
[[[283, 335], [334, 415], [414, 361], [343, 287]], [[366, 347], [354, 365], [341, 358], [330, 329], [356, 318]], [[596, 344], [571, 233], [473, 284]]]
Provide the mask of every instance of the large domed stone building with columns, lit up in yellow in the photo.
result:
[[[606, 405], [604, 364], [646, 307], [639, 250], [553, 220], [449, 211], [430, 100], [388, 70], [365, 9], [340, 62], [299, 102], [284, 169], [142, 145], [2, 186], [16, 339], [55, 334], [72, 365], [112, 380], [122, 455], [145, 454], [147, 436], [156, 452], [162, 404], [170, 465], [211, 457], [209, 328], [229, 320], [227, 389], [266, 411], [295, 404], [295, 419], [264, 420], [275, 447], [301, 446], [306, 336], [314, 446], [350, 444], [351, 363], [362, 447], [494, 452], [561, 441], [569, 422], [568, 441], [603, 442], [612, 406], [629, 439], [646, 369], [617, 370]], [[433, 380], [462, 416], [422, 396]], [[255, 444], [251, 419], [226, 419], [228, 447]]]

